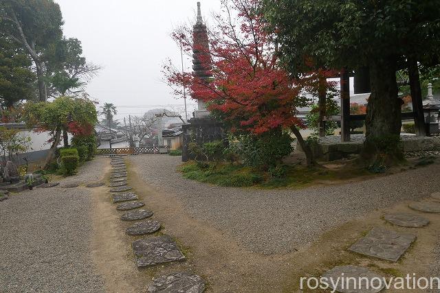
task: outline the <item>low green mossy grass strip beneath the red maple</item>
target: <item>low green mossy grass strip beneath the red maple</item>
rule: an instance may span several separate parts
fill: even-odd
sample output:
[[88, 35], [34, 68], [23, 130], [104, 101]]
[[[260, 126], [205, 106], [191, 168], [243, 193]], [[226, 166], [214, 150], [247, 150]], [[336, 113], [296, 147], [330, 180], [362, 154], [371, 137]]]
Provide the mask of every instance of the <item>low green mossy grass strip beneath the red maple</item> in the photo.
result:
[[[327, 169], [325, 167], [283, 166], [283, 172], [263, 172], [260, 169], [229, 163], [188, 162], [180, 165], [178, 171], [191, 180], [229, 187], [277, 187], [300, 188], [320, 183], [335, 183], [359, 176], [371, 175], [361, 168], [347, 167]], [[276, 176], [274, 176], [276, 174]]]

